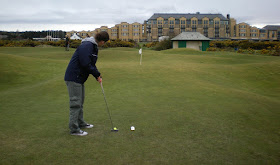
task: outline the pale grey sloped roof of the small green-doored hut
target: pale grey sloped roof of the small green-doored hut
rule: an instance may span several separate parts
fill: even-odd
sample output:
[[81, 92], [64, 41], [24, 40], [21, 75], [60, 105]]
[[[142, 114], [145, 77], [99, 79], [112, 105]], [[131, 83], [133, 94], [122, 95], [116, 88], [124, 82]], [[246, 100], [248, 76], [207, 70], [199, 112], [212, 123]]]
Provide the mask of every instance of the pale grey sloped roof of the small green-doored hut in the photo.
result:
[[182, 32], [176, 37], [171, 39], [172, 41], [192, 40], [192, 41], [210, 41], [211, 39], [205, 37], [199, 32]]

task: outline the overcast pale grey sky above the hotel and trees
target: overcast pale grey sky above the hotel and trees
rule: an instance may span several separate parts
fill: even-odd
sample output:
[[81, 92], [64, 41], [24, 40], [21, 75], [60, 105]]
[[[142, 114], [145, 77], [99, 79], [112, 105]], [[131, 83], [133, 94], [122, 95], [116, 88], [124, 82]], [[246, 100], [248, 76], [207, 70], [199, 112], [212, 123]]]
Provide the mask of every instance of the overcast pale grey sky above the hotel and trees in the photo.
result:
[[[0, 0], [0, 30], [9, 26], [139, 22], [153, 13], [230, 14], [259, 28], [280, 25], [280, 0]], [[30, 27], [32, 30], [32, 27]], [[78, 30], [78, 29], [72, 29]], [[84, 29], [92, 30], [92, 29]]]

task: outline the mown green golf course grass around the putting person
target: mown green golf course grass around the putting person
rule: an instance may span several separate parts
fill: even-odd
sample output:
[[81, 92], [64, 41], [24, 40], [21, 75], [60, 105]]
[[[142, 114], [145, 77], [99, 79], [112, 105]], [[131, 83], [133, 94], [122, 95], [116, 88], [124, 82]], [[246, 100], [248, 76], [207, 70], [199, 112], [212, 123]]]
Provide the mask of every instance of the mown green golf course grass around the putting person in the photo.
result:
[[0, 164], [279, 164], [279, 57], [144, 50], [140, 66], [137, 49], [101, 50], [119, 132], [90, 77], [95, 127], [74, 137], [63, 81], [73, 52], [0, 48]]

